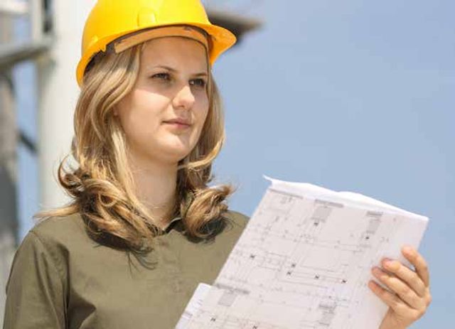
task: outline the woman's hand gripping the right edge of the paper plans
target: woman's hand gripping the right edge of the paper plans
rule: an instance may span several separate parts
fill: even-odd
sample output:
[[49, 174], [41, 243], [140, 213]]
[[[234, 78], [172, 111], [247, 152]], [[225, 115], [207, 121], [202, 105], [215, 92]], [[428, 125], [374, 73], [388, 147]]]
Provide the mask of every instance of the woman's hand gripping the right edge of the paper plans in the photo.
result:
[[427, 311], [432, 296], [429, 291], [429, 271], [427, 262], [417, 250], [404, 247], [402, 254], [415, 267], [415, 271], [391, 259], [382, 260], [382, 268], [373, 268], [373, 275], [390, 291], [375, 281], [368, 287], [387, 304], [389, 310], [379, 329], [405, 329]]

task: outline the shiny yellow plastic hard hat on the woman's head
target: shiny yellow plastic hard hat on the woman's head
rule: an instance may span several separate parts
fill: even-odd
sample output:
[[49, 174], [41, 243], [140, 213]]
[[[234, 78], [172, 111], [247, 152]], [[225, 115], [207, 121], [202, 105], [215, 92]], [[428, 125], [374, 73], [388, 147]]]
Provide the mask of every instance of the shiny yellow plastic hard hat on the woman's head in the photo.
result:
[[[82, 56], [77, 65], [77, 83], [80, 85], [85, 68], [94, 55], [105, 52], [113, 41], [125, 41], [135, 36], [129, 46], [157, 36], [187, 36], [196, 38], [188, 29], [167, 29], [168, 34], [149, 33], [137, 38], [141, 31], [164, 26], [194, 26], [208, 35], [208, 54], [213, 65], [218, 56], [234, 45], [235, 36], [225, 28], [208, 21], [200, 0], [98, 0], [85, 22], [82, 36]], [[187, 35], [188, 34], [188, 35]], [[116, 53], [128, 47], [114, 48]]]

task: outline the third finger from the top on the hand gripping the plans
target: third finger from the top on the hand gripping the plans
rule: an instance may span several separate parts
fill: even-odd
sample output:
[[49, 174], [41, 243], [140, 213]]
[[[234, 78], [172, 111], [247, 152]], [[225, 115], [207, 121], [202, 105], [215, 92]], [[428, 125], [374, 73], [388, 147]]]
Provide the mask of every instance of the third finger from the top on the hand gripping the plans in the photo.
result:
[[380, 281], [382, 284], [385, 284], [391, 291], [397, 293], [397, 295], [405, 301], [409, 306], [414, 309], [424, 308], [424, 300], [417, 296], [417, 293], [412, 290], [410, 286], [405, 284], [404, 281], [400, 280], [392, 274], [388, 274], [385, 271], [382, 271], [378, 267], [373, 268], [373, 275]]

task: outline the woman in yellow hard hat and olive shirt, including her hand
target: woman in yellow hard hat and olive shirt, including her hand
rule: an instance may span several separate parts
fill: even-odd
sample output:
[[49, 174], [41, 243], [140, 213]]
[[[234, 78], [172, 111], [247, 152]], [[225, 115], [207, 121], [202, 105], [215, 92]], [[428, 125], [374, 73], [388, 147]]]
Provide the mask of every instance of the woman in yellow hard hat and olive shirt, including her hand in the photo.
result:
[[[41, 214], [16, 252], [4, 328], [173, 328], [199, 282], [211, 284], [246, 224], [209, 188], [224, 139], [210, 72], [232, 33], [198, 0], [99, 0], [87, 20], [73, 167], [59, 177], [73, 203]], [[407, 328], [429, 303], [417, 274], [382, 264], [371, 285], [390, 305], [382, 329]]]

